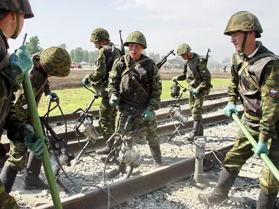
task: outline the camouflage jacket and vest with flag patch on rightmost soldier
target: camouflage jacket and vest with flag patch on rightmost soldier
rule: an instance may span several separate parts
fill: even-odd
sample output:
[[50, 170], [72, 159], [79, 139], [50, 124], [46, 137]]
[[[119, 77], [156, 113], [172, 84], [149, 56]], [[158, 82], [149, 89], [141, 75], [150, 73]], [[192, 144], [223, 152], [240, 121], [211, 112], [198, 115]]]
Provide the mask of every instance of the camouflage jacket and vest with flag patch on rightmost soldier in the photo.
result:
[[[229, 103], [236, 104], [240, 96], [244, 107], [243, 123], [258, 127], [259, 140], [268, 141], [276, 139], [276, 129], [279, 130], [279, 60], [261, 42], [257, 41], [257, 47], [251, 59], [244, 59], [239, 52], [233, 54]], [[256, 84], [246, 75], [245, 66]]]

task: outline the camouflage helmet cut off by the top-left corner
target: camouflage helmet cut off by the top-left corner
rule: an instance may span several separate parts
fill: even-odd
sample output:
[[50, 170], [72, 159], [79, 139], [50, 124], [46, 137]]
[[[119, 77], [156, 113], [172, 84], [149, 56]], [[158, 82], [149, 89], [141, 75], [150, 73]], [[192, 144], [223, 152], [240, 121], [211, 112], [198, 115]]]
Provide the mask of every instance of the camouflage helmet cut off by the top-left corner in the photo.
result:
[[[34, 17], [29, 0], [6, 0], [0, 3], [0, 10], [11, 11], [14, 13], [24, 14], [24, 19]], [[2, 17], [5, 13], [2, 13]]]

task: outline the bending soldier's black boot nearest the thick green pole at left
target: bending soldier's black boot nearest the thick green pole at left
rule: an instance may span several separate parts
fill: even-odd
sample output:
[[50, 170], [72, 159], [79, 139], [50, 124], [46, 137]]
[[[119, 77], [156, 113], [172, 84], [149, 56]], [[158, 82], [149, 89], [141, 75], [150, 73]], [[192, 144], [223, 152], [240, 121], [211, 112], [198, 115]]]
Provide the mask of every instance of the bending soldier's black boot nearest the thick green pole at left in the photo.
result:
[[30, 152], [27, 164], [27, 176], [24, 180], [24, 189], [48, 189], [48, 185], [39, 178], [42, 161], [33, 152]]

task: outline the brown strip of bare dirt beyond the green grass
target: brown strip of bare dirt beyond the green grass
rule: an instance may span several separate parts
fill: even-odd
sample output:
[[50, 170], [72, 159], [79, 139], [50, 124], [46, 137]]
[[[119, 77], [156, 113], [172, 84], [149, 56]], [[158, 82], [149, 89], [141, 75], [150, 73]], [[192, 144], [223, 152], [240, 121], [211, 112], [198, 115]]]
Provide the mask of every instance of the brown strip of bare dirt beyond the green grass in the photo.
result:
[[[85, 75], [93, 72], [93, 70], [71, 70], [70, 75], [67, 77], [50, 77], [50, 85], [52, 90], [56, 89], [66, 89], [66, 88], [81, 88], [82, 79]], [[163, 80], [170, 80], [176, 75], [180, 75], [183, 72], [183, 69], [171, 69], [171, 70], [160, 70], [160, 75]], [[211, 72], [212, 77], [230, 77], [230, 73], [220, 73], [220, 72]]]

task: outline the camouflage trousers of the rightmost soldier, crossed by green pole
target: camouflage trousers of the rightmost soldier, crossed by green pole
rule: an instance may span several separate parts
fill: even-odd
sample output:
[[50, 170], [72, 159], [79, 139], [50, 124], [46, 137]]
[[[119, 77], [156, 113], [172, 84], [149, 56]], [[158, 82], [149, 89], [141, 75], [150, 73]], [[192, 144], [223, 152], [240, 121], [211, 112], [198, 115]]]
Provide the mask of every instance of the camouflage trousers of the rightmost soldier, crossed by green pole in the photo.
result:
[[[246, 126], [246, 125], [245, 125]], [[257, 141], [259, 139], [259, 129], [255, 127], [246, 126], [252, 137]], [[269, 141], [269, 159], [279, 169], [279, 137], [276, 140]], [[246, 138], [241, 130], [239, 130], [238, 137], [234, 142], [234, 146], [227, 153], [223, 162], [223, 167], [230, 171], [240, 171], [243, 164], [246, 163], [254, 152], [252, 151], [252, 145]], [[259, 174], [259, 183], [261, 189], [266, 194], [272, 194], [279, 190], [279, 183], [275, 176], [271, 173], [268, 167], [264, 165], [261, 173]]]

